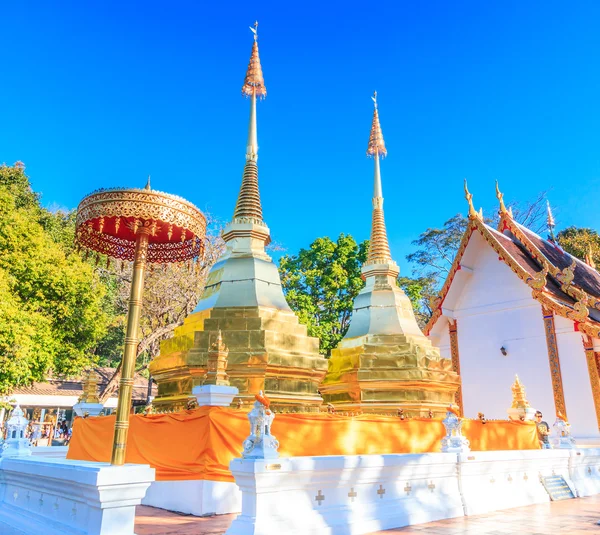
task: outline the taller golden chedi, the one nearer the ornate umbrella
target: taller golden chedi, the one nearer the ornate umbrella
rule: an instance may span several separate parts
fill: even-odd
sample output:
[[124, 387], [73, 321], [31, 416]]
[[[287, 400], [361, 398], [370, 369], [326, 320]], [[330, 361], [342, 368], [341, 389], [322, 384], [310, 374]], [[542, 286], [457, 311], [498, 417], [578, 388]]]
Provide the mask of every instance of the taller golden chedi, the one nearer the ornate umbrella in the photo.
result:
[[[246, 164], [233, 220], [223, 233], [226, 250], [211, 269], [196, 310], [161, 344], [150, 372], [158, 383], [158, 410], [184, 408], [202, 384], [208, 353], [217, 341], [229, 349], [227, 375], [242, 401], [263, 391], [279, 411], [316, 411], [317, 388], [327, 361], [319, 340], [307, 335], [281, 287], [277, 267], [265, 252], [270, 231], [258, 190], [256, 100], [267, 95], [258, 55], [257, 27], [242, 94], [250, 99]], [[236, 400], [237, 402], [237, 400]]]

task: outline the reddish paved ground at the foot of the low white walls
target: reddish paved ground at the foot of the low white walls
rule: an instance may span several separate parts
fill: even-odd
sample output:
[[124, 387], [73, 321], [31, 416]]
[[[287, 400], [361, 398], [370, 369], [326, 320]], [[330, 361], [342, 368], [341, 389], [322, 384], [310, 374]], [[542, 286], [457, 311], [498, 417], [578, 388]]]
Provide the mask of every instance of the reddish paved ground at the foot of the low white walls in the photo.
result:
[[[235, 515], [198, 518], [140, 506], [137, 535], [223, 535]], [[600, 495], [442, 520], [373, 535], [600, 535]]]

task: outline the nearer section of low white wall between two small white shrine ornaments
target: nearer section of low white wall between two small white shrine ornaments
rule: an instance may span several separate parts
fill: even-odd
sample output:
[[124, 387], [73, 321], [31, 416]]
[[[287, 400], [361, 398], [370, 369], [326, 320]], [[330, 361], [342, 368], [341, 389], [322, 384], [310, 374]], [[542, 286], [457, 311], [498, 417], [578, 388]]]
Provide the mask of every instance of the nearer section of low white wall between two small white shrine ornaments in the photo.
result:
[[463, 516], [456, 454], [235, 459], [227, 535], [358, 535]]

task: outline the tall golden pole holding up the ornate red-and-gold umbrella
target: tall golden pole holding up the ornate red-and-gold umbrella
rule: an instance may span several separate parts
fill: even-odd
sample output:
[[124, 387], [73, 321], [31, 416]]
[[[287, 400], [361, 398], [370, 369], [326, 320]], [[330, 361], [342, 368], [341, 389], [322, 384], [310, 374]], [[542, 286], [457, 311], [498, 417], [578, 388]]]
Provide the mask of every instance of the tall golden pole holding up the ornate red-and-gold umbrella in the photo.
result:
[[123, 351], [123, 363], [121, 366], [121, 380], [119, 381], [117, 420], [115, 422], [115, 435], [110, 461], [111, 464], [117, 466], [125, 464], [133, 374], [137, 357], [138, 329], [140, 326], [140, 313], [144, 292], [144, 272], [148, 253], [148, 238], [149, 229], [140, 228], [135, 242], [133, 277], [131, 280], [131, 293], [129, 295], [129, 311], [127, 313], [127, 332], [125, 333], [125, 349]]

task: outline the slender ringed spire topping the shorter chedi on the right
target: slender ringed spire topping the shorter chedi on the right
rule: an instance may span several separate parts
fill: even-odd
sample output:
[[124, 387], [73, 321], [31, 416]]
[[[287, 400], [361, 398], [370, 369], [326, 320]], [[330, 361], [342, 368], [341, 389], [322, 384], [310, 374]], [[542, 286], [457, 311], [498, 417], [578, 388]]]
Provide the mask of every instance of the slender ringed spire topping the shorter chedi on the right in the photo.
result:
[[379, 112], [377, 111], [377, 91], [371, 97], [375, 110], [373, 111], [373, 124], [371, 125], [371, 135], [369, 136], [369, 146], [367, 156], [375, 159], [375, 174], [373, 186], [373, 218], [371, 221], [371, 241], [369, 243], [369, 255], [365, 265], [387, 264], [393, 262], [390, 253], [390, 246], [387, 239], [385, 228], [385, 218], [383, 215], [383, 192], [381, 188], [381, 170], [379, 168], [379, 157], [385, 156], [387, 150], [381, 133], [379, 124]]

